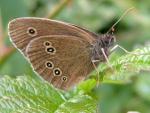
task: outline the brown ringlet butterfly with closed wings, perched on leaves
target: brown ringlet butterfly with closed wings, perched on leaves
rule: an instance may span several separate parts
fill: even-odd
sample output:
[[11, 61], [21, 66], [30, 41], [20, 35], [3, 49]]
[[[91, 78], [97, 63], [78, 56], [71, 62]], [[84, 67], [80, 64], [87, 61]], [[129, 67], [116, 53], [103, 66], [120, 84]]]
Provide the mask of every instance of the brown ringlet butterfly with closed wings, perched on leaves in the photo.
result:
[[45, 18], [17, 18], [10, 21], [8, 30], [14, 46], [35, 72], [63, 90], [84, 80], [100, 62], [106, 61], [115, 42], [112, 33], [98, 35]]

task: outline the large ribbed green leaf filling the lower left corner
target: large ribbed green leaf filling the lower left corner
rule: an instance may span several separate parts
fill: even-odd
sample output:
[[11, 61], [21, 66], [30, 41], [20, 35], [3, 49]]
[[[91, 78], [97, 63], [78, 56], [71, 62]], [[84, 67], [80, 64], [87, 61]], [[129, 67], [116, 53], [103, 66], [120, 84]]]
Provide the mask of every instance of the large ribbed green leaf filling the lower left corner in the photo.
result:
[[[20, 76], [0, 79], [0, 109], [28, 111], [43, 109], [53, 113], [64, 102], [63, 95], [46, 82]], [[31, 111], [32, 111], [31, 110]]]

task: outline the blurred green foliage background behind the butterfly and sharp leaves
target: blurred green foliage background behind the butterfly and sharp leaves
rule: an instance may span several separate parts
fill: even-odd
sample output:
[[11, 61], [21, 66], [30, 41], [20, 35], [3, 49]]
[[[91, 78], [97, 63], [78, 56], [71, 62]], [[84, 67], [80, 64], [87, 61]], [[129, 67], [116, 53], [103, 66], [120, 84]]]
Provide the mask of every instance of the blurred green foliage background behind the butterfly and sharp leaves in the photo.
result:
[[[27, 60], [13, 47], [7, 25], [17, 17], [47, 17], [63, 0], [0, 0], [0, 76], [37, 77]], [[67, 0], [66, 0], [67, 1]], [[69, 22], [90, 31], [106, 33], [125, 10], [135, 7], [115, 27], [118, 44], [127, 50], [150, 44], [149, 0], [68, 0], [53, 19]], [[124, 54], [117, 50], [113, 54]], [[101, 84], [95, 89], [102, 113], [150, 113], [150, 73], [133, 76], [128, 84]]]

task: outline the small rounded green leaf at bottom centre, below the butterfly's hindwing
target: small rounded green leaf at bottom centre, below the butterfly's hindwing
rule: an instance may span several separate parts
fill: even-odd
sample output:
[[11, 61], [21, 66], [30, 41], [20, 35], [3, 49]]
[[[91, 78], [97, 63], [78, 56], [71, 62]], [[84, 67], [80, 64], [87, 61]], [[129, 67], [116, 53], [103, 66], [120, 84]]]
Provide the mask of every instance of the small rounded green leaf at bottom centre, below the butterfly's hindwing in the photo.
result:
[[88, 95], [75, 96], [63, 103], [55, 113], [96, 113], [96, 101]]

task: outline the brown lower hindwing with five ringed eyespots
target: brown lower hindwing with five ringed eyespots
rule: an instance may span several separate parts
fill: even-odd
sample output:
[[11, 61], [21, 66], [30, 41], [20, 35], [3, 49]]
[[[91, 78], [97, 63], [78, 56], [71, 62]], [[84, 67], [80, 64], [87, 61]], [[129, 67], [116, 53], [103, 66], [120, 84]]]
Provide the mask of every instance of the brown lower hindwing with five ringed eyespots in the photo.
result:
[[60, 89], [70, 88], [93, 70], [89, 43], [79, 37], [41, 36], [29, 43], [26, 53], [35, 71]]

